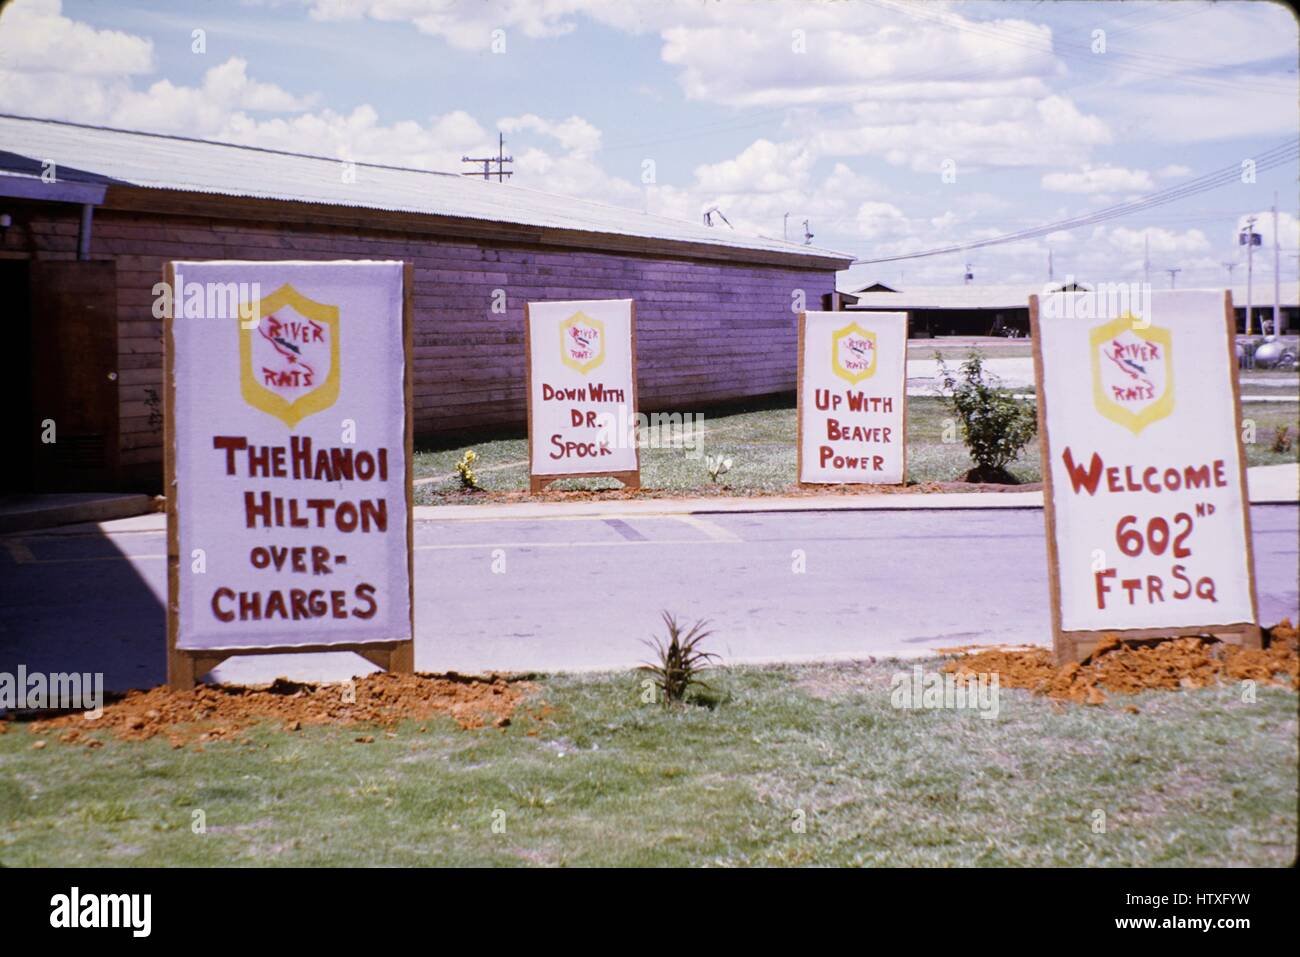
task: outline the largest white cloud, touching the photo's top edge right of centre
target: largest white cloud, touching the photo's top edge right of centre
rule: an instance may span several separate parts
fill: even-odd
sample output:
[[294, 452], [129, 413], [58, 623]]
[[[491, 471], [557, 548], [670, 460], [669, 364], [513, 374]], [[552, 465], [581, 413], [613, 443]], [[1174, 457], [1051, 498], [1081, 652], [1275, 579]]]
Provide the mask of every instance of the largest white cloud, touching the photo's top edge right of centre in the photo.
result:
[[[816, 120], [792, 139], [811, 157], [876, 155], [936, 170], [1075, 164], [1112, 142], [1106, 124], [1052, 92], [1065, 68], [1052, 30], [1024, 20], [974, 21], [937, 4], [893, 9], [803, 0], [311, 0], [313, 16], [404, 21], [464, 49], [491, 31], [554, 36], [592, 21], [658, 34], [689, 99], [727, 107], [803, 107]], [[1010, 38], [1010, 42], [1008, 40]], [[844, 107], [852, 107], [849, 116]]]

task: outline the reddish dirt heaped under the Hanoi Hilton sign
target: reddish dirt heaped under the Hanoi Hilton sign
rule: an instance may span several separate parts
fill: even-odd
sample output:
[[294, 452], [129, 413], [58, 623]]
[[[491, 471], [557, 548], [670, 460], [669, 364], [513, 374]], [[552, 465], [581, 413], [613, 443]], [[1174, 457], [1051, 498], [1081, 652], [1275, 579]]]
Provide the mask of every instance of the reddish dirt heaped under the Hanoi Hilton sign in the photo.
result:
[[[88, 722], [81, 714], [32, 722], [32, 731], [62, 731], [58, 740], [94, 746], [86, 732], [109, 729], [125, 740], [162, 735], [176, 746], [190, 741], [242, 737], [259, 720], [280, 722], [286, 731], [304, 724], [370, 724], [390, 727], [403, 719], [450, 716], [463, 728], [504, 727], [532, 690], [525, 681], [498, 675], [393, 675], [378, 672], [351, 684], [300, 684], [276, 679], [269, 685], [199, 685], [188, 692], [152, 688], [129, 692]], [[358, 739], [363, 740], [363, 739]]]

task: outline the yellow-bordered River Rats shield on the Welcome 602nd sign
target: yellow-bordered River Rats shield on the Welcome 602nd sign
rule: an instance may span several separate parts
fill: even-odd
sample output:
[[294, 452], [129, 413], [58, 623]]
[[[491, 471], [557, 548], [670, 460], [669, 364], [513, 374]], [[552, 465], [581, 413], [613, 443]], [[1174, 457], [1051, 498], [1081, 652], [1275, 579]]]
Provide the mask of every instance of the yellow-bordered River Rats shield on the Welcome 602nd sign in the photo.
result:
[[1169, 329], [1143, 328], [1126, 313], [1093, 329], [1089, 345], [1092, 399], [1101, 415], [1136, 436], [1174, 411]]

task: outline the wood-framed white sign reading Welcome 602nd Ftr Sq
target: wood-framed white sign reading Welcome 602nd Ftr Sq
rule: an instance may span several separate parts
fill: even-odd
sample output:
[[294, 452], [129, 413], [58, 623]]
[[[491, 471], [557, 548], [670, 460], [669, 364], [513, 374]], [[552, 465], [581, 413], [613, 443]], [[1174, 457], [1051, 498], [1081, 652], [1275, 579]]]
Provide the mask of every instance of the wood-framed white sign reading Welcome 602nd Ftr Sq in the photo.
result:
[[1258, 646], [1232, 299], [1030, 298], [1052, 632]]

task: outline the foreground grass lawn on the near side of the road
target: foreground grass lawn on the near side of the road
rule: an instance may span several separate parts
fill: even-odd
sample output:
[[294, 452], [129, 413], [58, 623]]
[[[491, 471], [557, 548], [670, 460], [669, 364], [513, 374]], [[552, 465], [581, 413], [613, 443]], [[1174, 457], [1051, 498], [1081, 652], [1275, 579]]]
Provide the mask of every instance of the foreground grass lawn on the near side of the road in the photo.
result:
[[[928, 667], [936, 663], [930, 662]], [[892, 662], [728, 668], [706, 702], [632, 672], [538, 679], [503, 729], [285, 732], [203, 752], [0, 735], [0, 865], [1277, 865], [1296, 694], [1000, 716], [900, 711]], [[1131, 714], [1124, 705], [1134, 703]], [[529, 732], [536, 732], [529, 735]], [[195, 833], [195, 811], [207, 831]], [[1105, 832], [1093, 828], [1105, 814]], [[494, 830], [494, 820], [498, 828]], [[796, 822], [805, 827], [800, 832]]]

